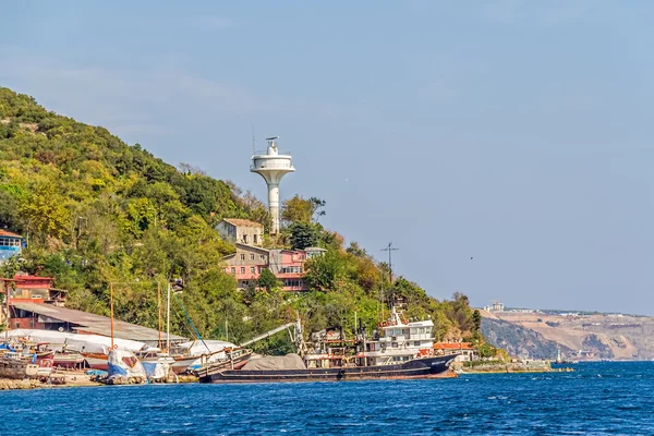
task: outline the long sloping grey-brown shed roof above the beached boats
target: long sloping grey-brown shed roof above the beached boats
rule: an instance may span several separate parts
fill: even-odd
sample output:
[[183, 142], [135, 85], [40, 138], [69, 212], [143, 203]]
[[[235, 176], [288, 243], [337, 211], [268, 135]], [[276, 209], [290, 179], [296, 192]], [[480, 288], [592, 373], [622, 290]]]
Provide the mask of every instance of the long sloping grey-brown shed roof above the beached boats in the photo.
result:
[[[76, 324], [78, 327], [74, 328], [77, 331], [111, 336], [111, 318], [107, 316], [76, 311], [74, 308], [53, 306], [50, 304], [13, 303], [12, 305], [22, 311], [32, 312], [44, 317], [59, 319], [64, 323]], [[156, 341], [159, 339], [159, 331], [154, 328], [113, 319], [113, 337], [136, 341]], [[166, 339], [165, 332], [161, 334], [161, 338]], [[170, 339], [177, 341], [185, 338], [177, 335], [170, 335]]]

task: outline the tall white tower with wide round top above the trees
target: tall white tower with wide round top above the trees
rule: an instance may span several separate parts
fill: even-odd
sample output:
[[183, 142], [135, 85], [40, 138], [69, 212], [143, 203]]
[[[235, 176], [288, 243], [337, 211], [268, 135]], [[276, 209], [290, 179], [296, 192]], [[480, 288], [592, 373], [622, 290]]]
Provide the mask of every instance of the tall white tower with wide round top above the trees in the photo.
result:
[[271, 234], [279, 232], [279, 182], [286, 173], [295, 171], [295, 167], [291, 162], [291, 154], [279, 154], [275, 142], [278, 136], [267, 137], [268, 149], [265, 154], [264, 152], [254, 152], [250, 166], [250, 171], [259, 173], [268, 185], [268, 207], [272, 220]]

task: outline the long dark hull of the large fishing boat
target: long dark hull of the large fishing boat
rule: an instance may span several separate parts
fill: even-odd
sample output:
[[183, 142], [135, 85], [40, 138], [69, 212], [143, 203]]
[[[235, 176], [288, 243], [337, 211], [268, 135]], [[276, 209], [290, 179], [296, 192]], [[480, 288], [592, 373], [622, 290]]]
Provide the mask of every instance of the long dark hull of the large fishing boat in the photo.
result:
[[277, 383], [277, 382], [351, 382], [378, 379], [440, 378], [448, 374], [452, 355], [414, 359], [391, 365], [275, 370], [275, 371], [222, 371], [201, 377], [201, 383]]

